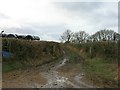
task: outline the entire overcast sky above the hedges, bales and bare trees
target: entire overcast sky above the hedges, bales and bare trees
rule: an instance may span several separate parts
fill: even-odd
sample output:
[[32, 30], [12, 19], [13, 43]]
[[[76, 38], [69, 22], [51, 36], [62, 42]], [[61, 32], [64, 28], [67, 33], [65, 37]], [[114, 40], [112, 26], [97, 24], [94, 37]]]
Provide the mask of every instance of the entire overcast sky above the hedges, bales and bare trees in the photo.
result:
[[89, 34], [105, 28], [118, 32], [117, 1], [0, 0], [0, 30], [53, 41], [59, 41], [67, 29]]

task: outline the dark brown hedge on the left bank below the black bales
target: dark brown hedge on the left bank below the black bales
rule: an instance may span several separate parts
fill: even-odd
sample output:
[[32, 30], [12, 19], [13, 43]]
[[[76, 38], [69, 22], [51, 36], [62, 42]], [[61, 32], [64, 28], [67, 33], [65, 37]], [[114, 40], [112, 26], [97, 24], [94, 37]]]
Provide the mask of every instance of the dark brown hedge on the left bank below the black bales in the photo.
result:
[[[3, 51], [13, 54], [12, 61], [27, 65], [39, 65], [63, 55], [61, 46], [55, 42], [3, 39]], [[7, 62], [3, 58], [3, 62]]]

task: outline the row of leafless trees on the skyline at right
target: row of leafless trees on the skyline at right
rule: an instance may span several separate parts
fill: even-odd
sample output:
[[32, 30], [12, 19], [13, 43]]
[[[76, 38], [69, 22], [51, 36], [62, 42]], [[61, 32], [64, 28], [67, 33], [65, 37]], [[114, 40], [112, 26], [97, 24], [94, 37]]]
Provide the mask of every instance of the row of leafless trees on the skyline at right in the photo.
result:
[[93, 35], [89, 35], [85, 31], [72, 33], [70, 30], [66, 30], [61, 36], [61, 41], [67, 43], [86, 43], [97, 41], [118, 42], [119, 40], [120, 34], [109, 29], [97, 31]]

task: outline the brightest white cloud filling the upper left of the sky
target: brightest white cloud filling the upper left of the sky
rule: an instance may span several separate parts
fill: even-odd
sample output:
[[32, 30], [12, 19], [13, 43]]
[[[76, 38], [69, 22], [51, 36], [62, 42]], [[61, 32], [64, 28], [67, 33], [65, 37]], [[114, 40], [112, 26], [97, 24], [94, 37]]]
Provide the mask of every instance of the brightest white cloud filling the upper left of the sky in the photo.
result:
[[9, 21], [18, 24], [56, 25], [66, 18], [57, 11], [52, 0], [0, 0], [0, 13], [9, 15]]

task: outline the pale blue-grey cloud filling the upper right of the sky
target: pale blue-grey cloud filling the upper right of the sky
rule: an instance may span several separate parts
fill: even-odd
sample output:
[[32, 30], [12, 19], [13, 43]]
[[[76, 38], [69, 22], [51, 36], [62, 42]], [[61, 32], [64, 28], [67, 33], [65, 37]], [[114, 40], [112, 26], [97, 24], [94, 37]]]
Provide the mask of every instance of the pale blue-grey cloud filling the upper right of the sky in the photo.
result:
[[117, 3], [60, 2], [56, 3], [56, 7], [68, 11], [73, 19], [75, 16], [82, 18], [88, 24], [86, 29], [118, 27]]

